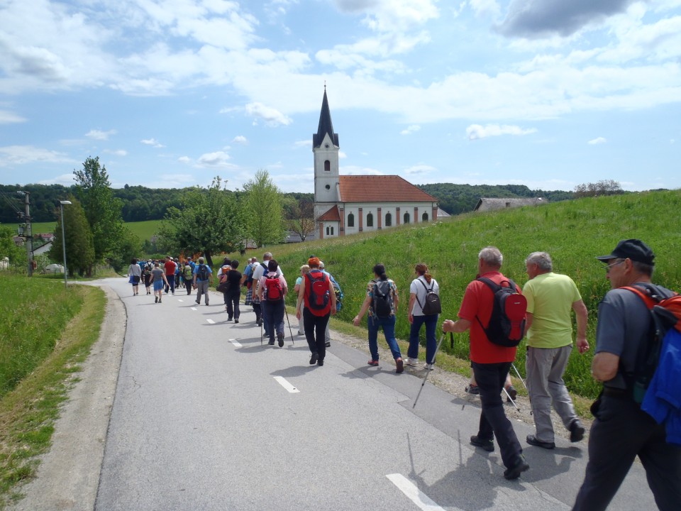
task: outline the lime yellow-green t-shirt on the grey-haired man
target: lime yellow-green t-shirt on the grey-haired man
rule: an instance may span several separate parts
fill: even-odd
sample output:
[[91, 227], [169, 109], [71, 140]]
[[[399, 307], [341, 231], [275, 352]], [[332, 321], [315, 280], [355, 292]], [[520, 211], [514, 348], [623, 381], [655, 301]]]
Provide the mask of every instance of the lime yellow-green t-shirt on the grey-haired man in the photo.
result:
[[542, 273], [523, 286], [532, 326], [527, 345], [532, 348], [560, 348], [572, 344], [572, 304], [582, 300], [575, 282], [560, 273]]

